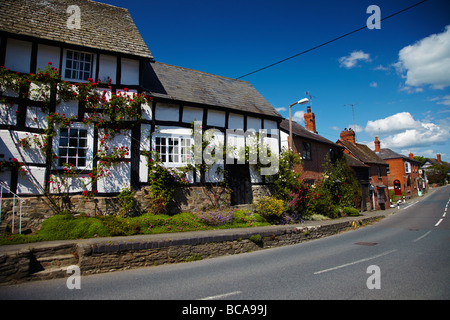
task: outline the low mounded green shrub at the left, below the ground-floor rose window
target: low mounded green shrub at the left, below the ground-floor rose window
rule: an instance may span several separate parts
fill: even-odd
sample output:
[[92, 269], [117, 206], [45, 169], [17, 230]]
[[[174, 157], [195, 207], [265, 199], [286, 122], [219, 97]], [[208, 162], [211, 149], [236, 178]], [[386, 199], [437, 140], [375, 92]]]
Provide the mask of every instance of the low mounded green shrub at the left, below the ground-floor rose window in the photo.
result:
[[105, 225], [96, 218], [74, 217], [71, 214], [59, 214], [42, 223], [37, 233], [44, 241], [107, 237]]

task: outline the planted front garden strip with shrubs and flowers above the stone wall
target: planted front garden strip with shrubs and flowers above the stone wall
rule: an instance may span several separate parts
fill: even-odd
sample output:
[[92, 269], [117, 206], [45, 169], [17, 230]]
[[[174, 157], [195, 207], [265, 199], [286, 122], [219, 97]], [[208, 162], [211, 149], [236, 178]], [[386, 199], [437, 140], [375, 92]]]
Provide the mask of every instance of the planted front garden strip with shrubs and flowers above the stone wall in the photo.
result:
[[[196, 213], [169, 215], [161, 210], [161, 202], [157, 201], [154, 212], [132, 216], [127, 213], [132, 211], [134, 205], [133, 192], [125, 190], [119, 195], [122, 210], [117, 215], [90, 217], [85, 214], [57, 214], [45, 220], [41, 229], [34, 234], [4, 234], [0, 237], [0, 245], [246, 228], [359, 215], [359, 210], [354, 208], [360, 201], [359, 184], [345, 161], [342, 158], [328, 161], [324, 169], [323, 179], [315, 185], [307, 185], [301, 179], [301, 161], [298, 155], [283, 152], [280, 156], [280, 172], [273, 177], [273, 196], [255, 201], [253, 210], [210, 208]], [[165, 176], [158, 184], [166, 196], [165, 186], [174, 187], [172, 179], [178, 178]], [[171, 194], [165, 199], [167, 203], [171, 202], [172, 196]]]

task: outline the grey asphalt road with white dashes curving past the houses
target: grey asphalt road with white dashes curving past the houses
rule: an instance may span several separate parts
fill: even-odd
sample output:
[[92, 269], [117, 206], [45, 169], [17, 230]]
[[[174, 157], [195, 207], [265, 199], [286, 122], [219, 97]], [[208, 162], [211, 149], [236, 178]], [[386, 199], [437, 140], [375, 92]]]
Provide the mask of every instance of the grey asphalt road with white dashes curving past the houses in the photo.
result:
[[[0, 287], [0, 299], [450, 299], [450, 186], [374, 225], [236, 256]], [[448, 210], [448, 211], [447, 211]], [[448, 212], [448, 214], [447, 214]]]

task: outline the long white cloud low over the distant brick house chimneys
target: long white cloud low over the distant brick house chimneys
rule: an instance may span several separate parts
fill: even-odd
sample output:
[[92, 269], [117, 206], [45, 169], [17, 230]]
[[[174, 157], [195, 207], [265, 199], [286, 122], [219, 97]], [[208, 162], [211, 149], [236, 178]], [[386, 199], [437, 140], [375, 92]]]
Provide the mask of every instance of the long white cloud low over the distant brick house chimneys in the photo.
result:
[[365, 130], [372, 135], [384, 136], [380, 139], [382, 148], [397, 150], [443, 144], [450, 138], [448, 126], [414, 120], [409, 112], [368, 121]]

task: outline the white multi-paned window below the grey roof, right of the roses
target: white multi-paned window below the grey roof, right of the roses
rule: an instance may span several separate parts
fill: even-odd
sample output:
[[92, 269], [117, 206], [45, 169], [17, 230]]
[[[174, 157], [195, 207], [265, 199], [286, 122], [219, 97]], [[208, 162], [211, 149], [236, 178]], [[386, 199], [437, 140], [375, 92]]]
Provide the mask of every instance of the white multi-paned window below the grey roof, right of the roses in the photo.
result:
[[164, 163], [187, 163], [191, 155], [191, 137], [156, 137], [155, 150]]

